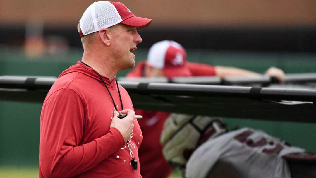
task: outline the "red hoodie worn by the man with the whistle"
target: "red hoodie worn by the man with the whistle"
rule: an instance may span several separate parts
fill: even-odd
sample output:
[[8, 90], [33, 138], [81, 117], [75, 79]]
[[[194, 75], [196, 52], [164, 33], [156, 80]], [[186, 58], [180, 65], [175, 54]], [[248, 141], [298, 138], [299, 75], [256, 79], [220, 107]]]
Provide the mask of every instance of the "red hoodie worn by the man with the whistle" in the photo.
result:
[[[102, 77], [121, 111], [115, 80]], [[119, 85], [119, 91], [124, 109], [134, 110], [126, 90]], [[39, 177], [141, 177], [141, 129], [134, 119], [129, 142], [138, 170], [133, 170], [122, 134], [110, 128], [114, 110], [97, 71], [78, 61], [62, 72], [48, 92], [40, 116]]]

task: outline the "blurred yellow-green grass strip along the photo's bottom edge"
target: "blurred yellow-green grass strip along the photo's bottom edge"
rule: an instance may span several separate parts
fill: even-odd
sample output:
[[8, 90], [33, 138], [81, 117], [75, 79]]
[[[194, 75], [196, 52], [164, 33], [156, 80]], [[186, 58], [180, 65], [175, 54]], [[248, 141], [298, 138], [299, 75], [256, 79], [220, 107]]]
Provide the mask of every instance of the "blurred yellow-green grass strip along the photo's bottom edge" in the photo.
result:
[[[37, 167], [0, 166], [0, 177], [38, 178], [39, 170]], [[177, 170], [175, 170], [168, 178], [181, 178], [181, 175]]]

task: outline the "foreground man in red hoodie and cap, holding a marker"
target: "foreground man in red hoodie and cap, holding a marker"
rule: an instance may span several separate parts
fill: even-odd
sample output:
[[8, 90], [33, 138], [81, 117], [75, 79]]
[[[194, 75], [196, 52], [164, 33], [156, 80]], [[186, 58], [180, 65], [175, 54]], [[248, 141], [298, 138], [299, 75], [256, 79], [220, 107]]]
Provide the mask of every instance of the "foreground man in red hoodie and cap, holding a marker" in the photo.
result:
[[42, 107], [39, 177], [142, 177], [143, 134], [116, 74], [134, 67], [137, 30], [151, 19], [123, 3], [97, 1], [79, 22], [82, 60], [60, 74]]

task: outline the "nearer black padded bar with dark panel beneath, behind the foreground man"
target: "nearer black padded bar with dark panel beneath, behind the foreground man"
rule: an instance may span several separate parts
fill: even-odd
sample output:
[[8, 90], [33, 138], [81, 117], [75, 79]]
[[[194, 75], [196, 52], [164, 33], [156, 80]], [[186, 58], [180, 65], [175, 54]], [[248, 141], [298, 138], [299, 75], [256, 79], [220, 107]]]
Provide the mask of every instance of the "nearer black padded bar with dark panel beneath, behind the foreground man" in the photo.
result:
[[[15, 78], [19, 86], [26, 80], [26, 77], [19, 80]], [[27, 90], [25, 85], [23, 89], [0, 88], [0, 99], [42, 103], [48, 92], [47, 87], [52, 86], [54, 80], [56, 79], [37, 78], [37, 90], [33, 91]], [[128, 91], [134, 107], [138, 109], [232, 118], [316, 122], [315, 105], [313, 102], [306, 102], [316, 101], [316, 90], [313, 89], [119, 83]], [[250, 91], [253, 92], [253, 100]]]

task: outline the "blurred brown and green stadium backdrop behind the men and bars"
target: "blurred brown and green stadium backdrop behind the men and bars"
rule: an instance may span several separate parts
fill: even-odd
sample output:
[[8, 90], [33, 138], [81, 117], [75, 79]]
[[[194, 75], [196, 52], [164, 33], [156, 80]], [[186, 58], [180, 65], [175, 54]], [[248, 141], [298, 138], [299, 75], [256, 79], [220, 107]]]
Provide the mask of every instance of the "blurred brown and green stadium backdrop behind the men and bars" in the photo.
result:
[[[81, 60], [77, 24], [94, 1], [0, 0], [0, 75], [54, 76]], [[120, 1], [153, 19], [139, 32], [136, 61], [160, 40], [175, 40], [189, 61], [235, 66], [259, 73], [316, 71], [314, 0]], [[128, 72], [121, 71], [118, 76]], [[41, 103], [0, 101], [0, 177], [38, 177]], [[302, 113], [304, 117], [304, 113]], [[249, 126], [316, 151], [316, 124], [224, 118], [230, 128]], [[57, 123], [56, 123], [57, 124]], [[16, 175], [21, 172], [22, 175]], [[172, 177], [178, 177], [174, 173]]]

